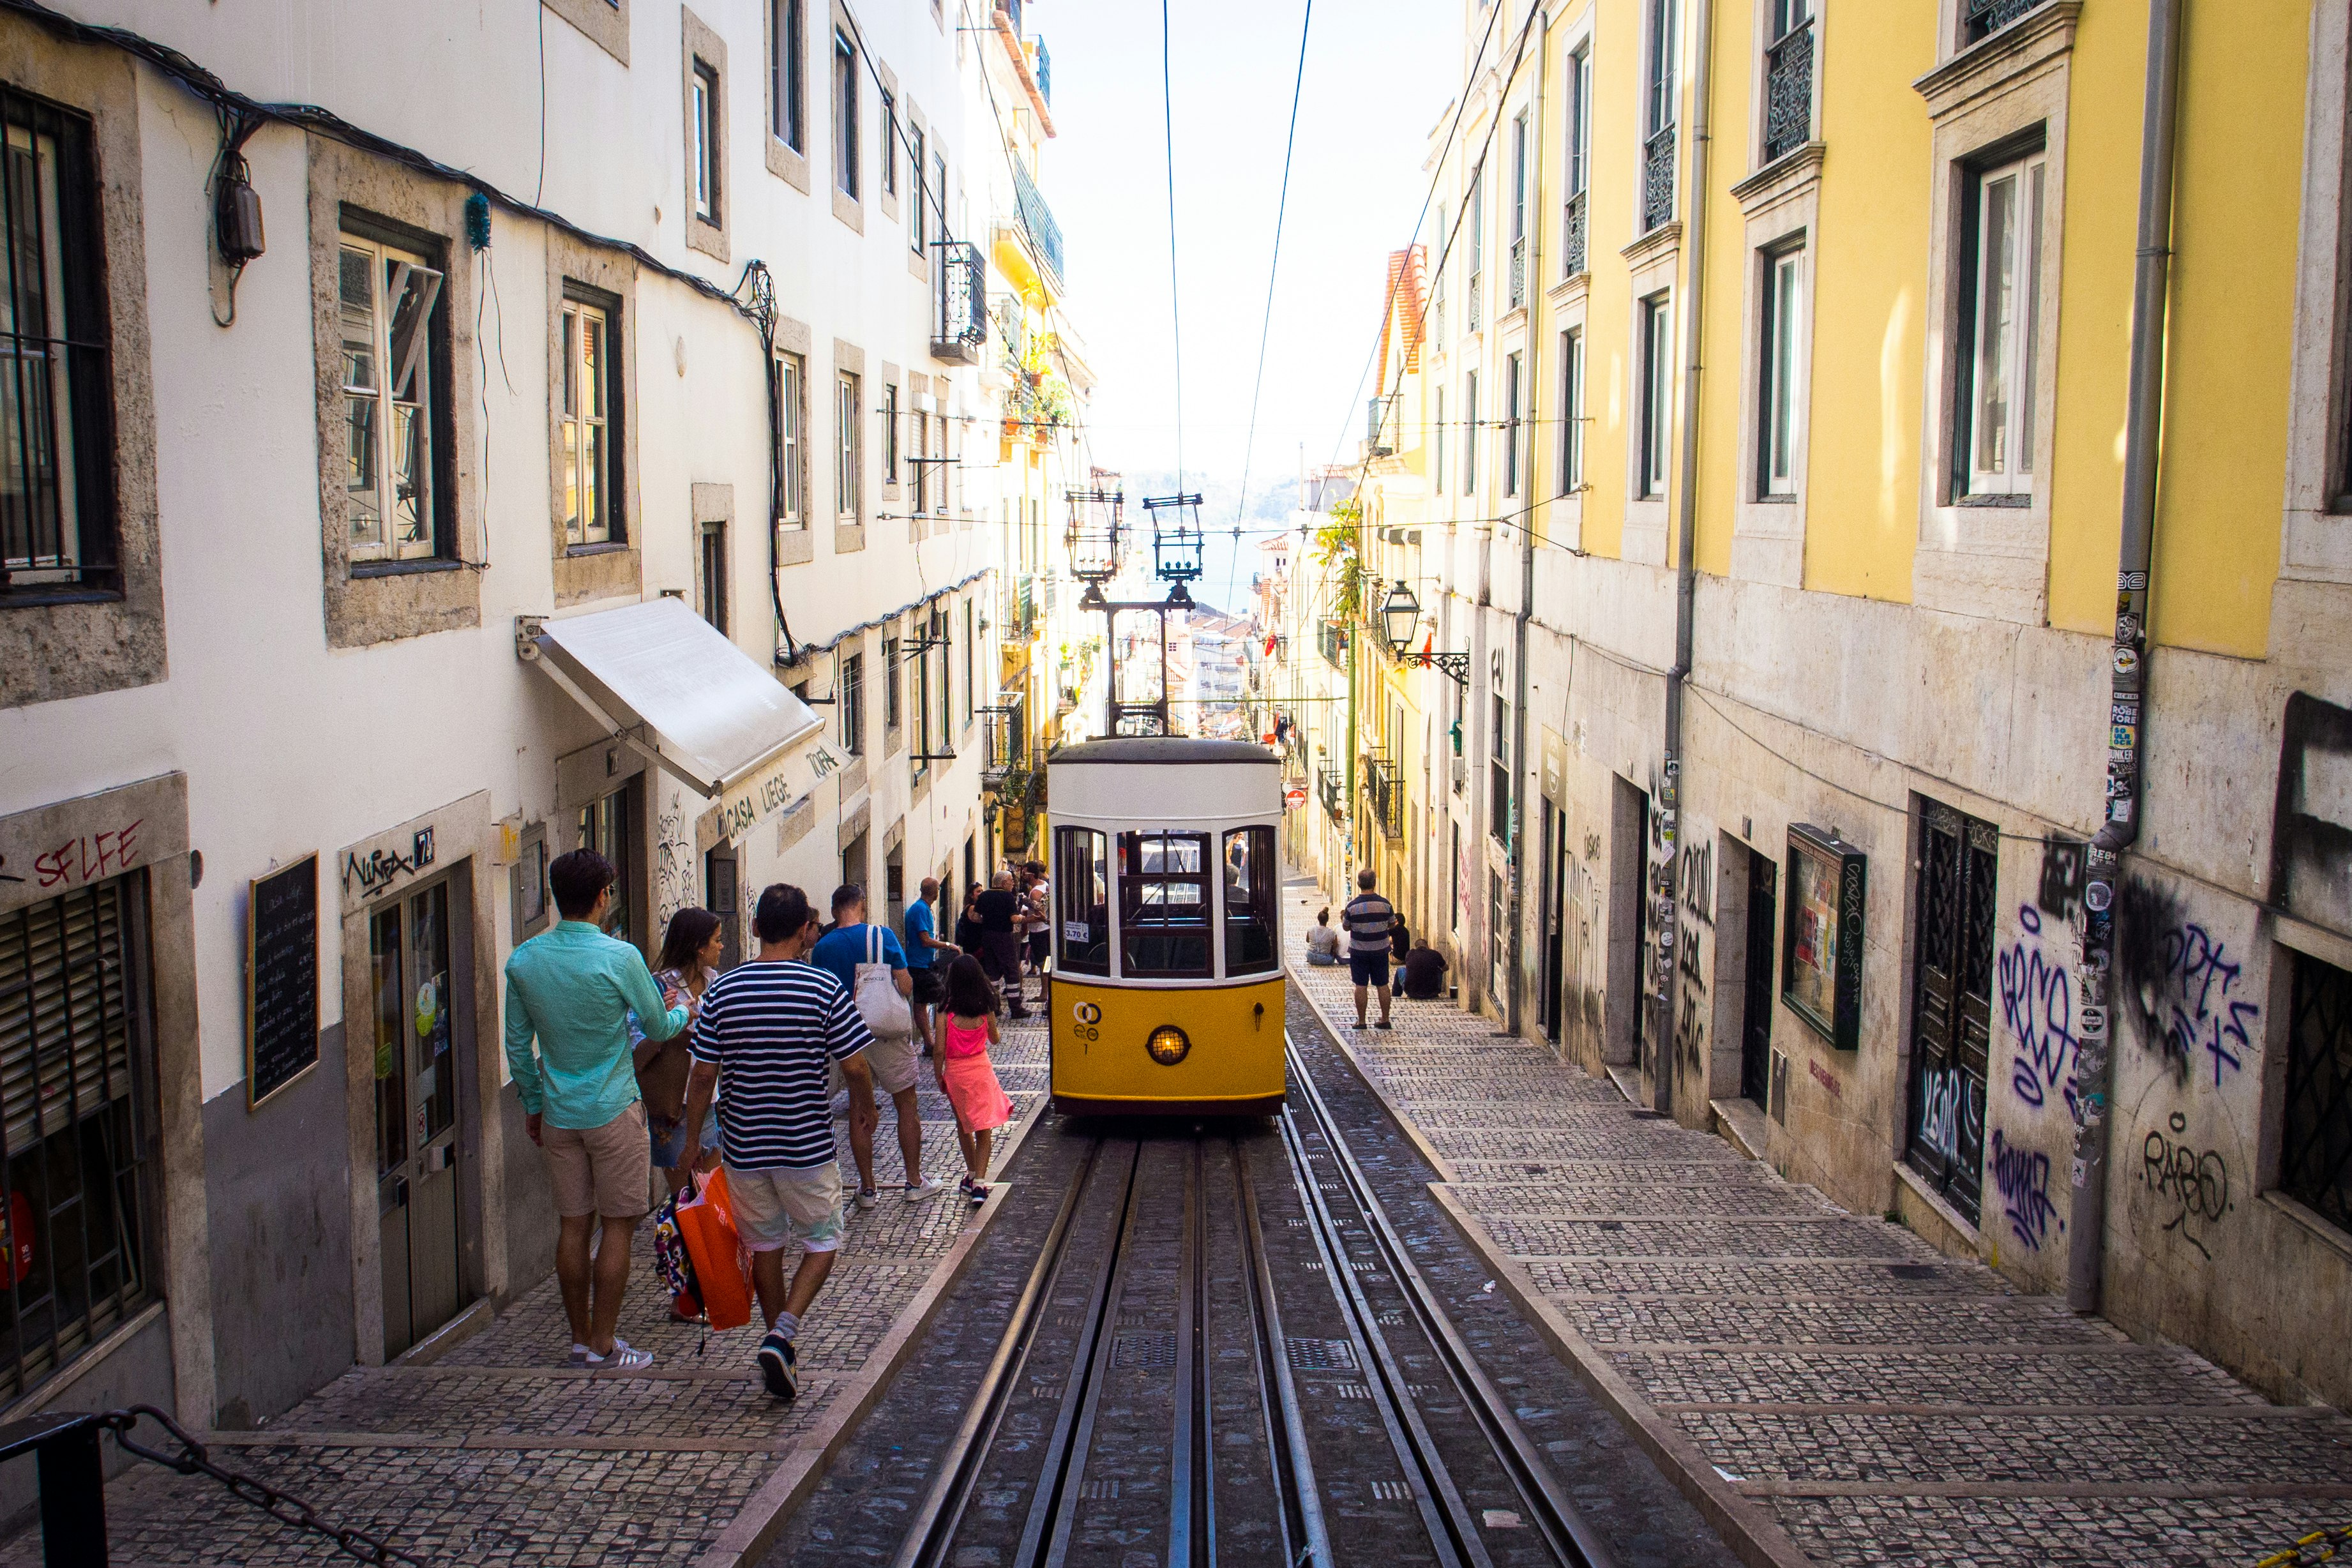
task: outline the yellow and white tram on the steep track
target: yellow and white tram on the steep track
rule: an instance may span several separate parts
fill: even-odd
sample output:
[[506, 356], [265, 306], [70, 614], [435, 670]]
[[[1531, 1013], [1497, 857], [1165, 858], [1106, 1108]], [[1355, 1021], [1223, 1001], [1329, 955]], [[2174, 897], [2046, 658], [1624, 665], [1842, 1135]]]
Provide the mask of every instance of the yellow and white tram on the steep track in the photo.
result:
[[1054, 752], [1054, 1107], [1282, 1110], [1282, 764], [1247, 741]]

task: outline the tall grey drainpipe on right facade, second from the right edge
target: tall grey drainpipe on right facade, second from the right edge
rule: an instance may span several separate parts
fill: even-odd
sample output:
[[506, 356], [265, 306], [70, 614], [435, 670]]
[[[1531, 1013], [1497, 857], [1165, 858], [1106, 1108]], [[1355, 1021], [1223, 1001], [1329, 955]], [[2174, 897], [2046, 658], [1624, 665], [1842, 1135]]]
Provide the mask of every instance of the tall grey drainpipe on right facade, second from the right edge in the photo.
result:
[[[1698, 334], [1703, 327], [1700, 294], [1708, 275], [1708, 150], [1712, 146], [1708, 132], [1708, 99], [1715, 85], [1712, 0], [1696, 0], [1691, 9], [1691, 33], [1696, 38], [1698, 56], [1691, 63], [1691, 165], [1689, 183], [1682, 190], [1682, 209], [1686, 214], [1682, 223], [1682, 242], [1689, 268], [1682, 282], [1682, 475], [1675, 487], [1675, 668], [1665, 672], [1665, 799], [1653, 806], [1665, 811], [1668, 825], [1665, 875], [1658, 886], [1658, 893], [1668, 900], [1668, 919], [1661, 922], [1661, 929], [1675, 933], [1675, 940], [1689, 940], [1689, 933], [1682, 931], [1682, 856], [1675, 851], [1682, 835], [1682, 684], [1691, 677], [1691, 618], [1698, 604], [1698, 562], [1693, 559], [1698, 548]], [[1642, 889], [1642, 896], [1649, 898], [1649, 889]], [[1663, 1065], [1663, 1070], [1651, 1079], [1653, 1110], [1670, 1110], [1675, 1103], [1675, 957], [1672, 945], [1668, 945], [1668, 1001], [1658, 1009], [1658, 1027], [1651, 1034], [1651, 1051], [1656, 1053], [1653, 1060]], [[1642, 1006], [1649, 1006], [1646, 987]]]

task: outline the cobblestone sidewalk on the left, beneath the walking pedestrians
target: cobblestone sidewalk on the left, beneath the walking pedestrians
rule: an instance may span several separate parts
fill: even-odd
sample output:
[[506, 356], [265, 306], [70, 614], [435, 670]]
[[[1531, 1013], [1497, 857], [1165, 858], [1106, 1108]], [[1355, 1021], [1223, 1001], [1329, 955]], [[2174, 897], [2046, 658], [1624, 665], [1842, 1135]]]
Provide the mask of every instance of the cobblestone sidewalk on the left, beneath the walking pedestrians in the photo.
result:
[[[1007, 1025], [997, 1070], [1018, 1126], [1047, 1088], [1042, 1020]], [[955, 1121], [929, 1074], [922, 1119], [924, 1168], [953, 1187]], [[835, 1143], [854, 1187], [840, 1119]], [[1009, 1157], [1000, 1143], [997, 1168]], [[428, 1563], [694, 1563], [856, 1387], [971, 1222], [953, 1190], [924, 1204], [887, 1192], [906, 1180], [887, 1110], [875, 1180], [884, 1201], [849, 1213], [842, 1260], [800, 1338], [790, 1406], [753, 1378], [750, 1328], [703, 1335], [668, 1321], [652, 1227], [640, 1227], [621, 1338], [656, 1354], [647, 1373], [564, 1366], [572, 1335], [546, 1279], [428, 1366], [353, 1368], [261, 1432], [216, 1434], [214, 1460]], [[113, 1481], [106, 1514], [118, 1566], [348, 1561], [212, 1481], [153, 1467]], [[40, 1563], [38, 1526], [0, 1552], [0, 1566], [24, 1563]]]

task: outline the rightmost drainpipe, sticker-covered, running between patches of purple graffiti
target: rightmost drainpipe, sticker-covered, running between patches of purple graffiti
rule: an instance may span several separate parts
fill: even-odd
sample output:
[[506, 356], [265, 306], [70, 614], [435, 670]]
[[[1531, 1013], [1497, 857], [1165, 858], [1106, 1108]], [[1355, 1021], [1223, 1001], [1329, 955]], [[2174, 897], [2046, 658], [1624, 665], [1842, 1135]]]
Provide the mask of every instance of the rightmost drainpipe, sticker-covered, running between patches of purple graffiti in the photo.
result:
[[2124, 543], [2114, 564], [2114, 684], [2107, 715], [2105, 820], [2084, 856], [2084, 929], [2074, 1006], [2077, 1093], [2065, 1305], [2098, 1312], [2107, 1229], [2107, 1086], [2112, 1044], [2114, 893], [2140, 837], [2140, 736], [2147, 693], [2147, 559], [2164, 435], [2164, 289], [2173, 230], [2173, 108], [2180, 94], [2180, 0], [2150, 0], [2140, 118], [2140, 242], [2131, 287], [2131, 388], [2124, 407]]

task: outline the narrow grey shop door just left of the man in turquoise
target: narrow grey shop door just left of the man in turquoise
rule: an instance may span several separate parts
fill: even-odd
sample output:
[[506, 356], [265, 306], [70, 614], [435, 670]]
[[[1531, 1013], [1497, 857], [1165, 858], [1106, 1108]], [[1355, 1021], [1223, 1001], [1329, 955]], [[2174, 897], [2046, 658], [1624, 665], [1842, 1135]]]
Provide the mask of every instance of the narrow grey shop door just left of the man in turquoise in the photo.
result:
[[449, 903], [449, 884], [442, 882], [369, 919], [386, 1359], [466, 1305], [459, 1269], [456, 1079], [459, 1060], [473, 1053], [456, 1048]]

